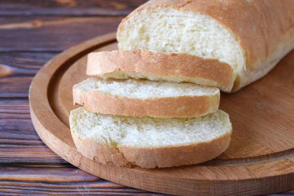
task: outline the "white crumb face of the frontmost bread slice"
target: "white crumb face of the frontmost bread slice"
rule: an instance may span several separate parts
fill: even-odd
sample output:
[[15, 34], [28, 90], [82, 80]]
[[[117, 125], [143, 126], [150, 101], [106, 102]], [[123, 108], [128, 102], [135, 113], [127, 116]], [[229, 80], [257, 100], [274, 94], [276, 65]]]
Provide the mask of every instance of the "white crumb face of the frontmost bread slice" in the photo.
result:
[[168, 147], [215, 140], [230, 133], [228, 114], [194, 118], [152, 118], [104, 115], [80, 107], [71, 111], [70, 125], [80, 140], [91, 139], [107, 147]]

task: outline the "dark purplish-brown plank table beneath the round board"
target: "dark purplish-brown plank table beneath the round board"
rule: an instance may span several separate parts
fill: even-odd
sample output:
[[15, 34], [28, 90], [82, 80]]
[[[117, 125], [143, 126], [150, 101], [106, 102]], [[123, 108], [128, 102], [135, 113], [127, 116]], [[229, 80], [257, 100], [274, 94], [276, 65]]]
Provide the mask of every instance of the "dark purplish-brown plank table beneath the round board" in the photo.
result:
[[103, 180], [64, 161], [36, 134], [27, 98], [32, 78], [49, 59], [115, 31], [145, 1], [0, 0], [0, 195], [163, 195]]

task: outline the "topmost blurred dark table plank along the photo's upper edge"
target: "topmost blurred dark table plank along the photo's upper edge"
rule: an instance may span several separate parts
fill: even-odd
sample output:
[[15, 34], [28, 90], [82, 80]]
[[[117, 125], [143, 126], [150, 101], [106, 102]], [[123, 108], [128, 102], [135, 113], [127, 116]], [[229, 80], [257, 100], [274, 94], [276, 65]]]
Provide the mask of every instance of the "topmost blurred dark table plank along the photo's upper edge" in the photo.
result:
[[0, 16], [125, 16], [147, 0], [1, 0]]

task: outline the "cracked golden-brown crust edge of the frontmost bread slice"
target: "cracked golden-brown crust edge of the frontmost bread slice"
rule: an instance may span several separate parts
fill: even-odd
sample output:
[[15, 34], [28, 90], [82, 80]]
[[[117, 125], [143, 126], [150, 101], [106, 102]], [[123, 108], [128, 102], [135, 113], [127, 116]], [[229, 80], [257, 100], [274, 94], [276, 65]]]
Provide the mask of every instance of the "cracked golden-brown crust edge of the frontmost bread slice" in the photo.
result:
[[209, 142], [185, 146], [132, 147], [118, 145], [107, 147], [90, 139], [81, 140], [72, 131], [73, 142], [83, 156], [102, 164], [120, 167], [140, 166], [142, 168], [165, 168], [192, 165], [214, 159], [221, 155], [230, 144], [232, 129]]

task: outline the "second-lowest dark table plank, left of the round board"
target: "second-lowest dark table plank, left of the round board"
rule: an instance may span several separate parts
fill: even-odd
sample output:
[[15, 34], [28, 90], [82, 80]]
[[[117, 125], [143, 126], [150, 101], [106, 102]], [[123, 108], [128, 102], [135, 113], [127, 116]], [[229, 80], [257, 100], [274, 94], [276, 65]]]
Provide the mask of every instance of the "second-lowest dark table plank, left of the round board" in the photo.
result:
[[0, 163], [66, 163], [39, 138], [28, 99], [0, 99]]

